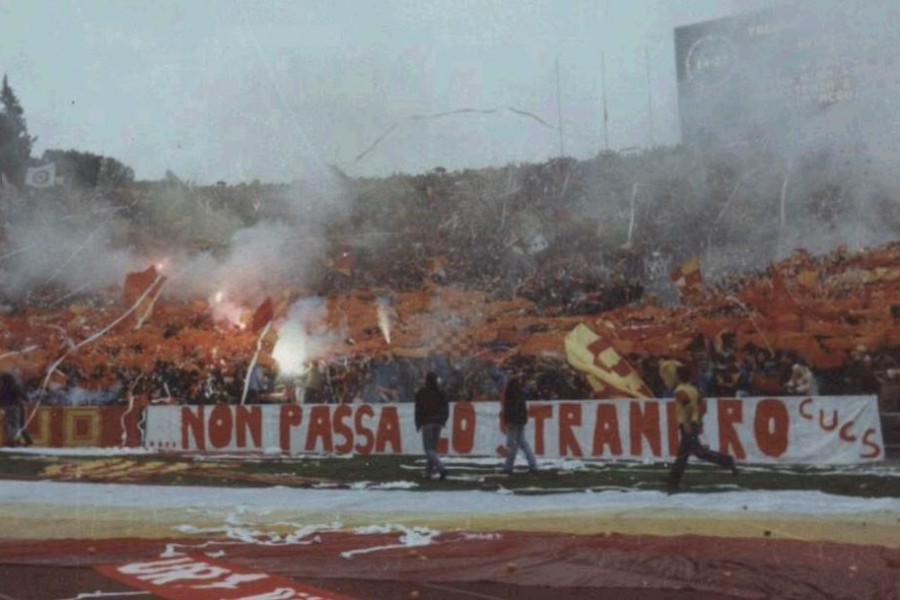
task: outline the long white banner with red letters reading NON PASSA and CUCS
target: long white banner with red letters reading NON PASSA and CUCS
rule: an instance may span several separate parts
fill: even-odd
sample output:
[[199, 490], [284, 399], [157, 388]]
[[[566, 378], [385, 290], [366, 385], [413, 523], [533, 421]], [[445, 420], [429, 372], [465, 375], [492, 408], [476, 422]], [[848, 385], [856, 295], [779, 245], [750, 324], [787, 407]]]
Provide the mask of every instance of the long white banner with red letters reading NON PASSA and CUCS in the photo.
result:
[[[739, 462], [853, 464], [884, 459], [874, 396], [707, 399], [702, 440]], [[421, 454], [412, 404], [149, 406], [145, 445], [161, 450]], [[678, 434], [670, 399], [529, 402], [539, 457], [666, 461]], [[503, 456], [496, 402], [455, 402], [440, 450]]]

